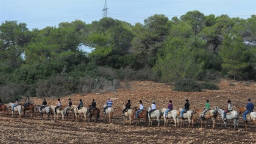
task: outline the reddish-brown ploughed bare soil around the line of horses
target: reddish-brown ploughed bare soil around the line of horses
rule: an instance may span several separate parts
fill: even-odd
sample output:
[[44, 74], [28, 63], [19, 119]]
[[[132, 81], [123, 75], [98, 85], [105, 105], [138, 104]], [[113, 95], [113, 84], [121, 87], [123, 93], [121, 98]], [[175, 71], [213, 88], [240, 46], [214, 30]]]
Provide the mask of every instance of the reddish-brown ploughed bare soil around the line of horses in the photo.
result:
[[[101, 109], [101, 120], [98, 123], [87, 122], [84, 118], [80, 122], [75, 122], [70, 117], [68, 121], [40, 120], [37, 117], [31, 118], [29, 112], [22, 118], [16, 114], [12, 118], [11, 111], [7, 117], [0, 112], [0, 143], [256, 143], [256, 126], [249, 123], [249, 131], [244, 131], [244, 123], [241, 120], [239, 128], [233, 130], [233, 122], [227, 122], [227, 129], [224, 129], [223, 121], [218, 116], [216, 128], [210, 129], [212, 120], [208, 120], [207, 128], [200, 128], [199, 118], [193, 128], [187, 128], [188, 122], [182, 128], [174, 128], [173, 120], [169, 120], [168, 127], [163, 127], [163, 119], [158, 128], [154, 120], [152, 127], [144, 126], [141, 123], [132, 126], [128, 123], [123, 125], [121, 111], [130, 99], [132, 108], [138, 106], [139, 100], [142, 100], [144, 107], [148, 108], [152, 100], [155, 100], [157, 109], [166, 108], [168, 101], [172, 100], [174, 109], [182, 107], [185, 99], [190, 100], [191, 109], [204, 108], [205, 100], [210, 100], [211, 108], [219, 106], [227, 107], [227, 100], [231, 100], [234, 110], [238, 106], [246, 106], [247, 98], [251, 98], [256, 103], [256, 83], [244, 81], [222, 80], [218, 84], [221, 88], [218, 91], [204, 90], [203, 92], [176, 92], [172, 91], [172, 86], [164, 83], [155, 83], [152, 81], [132, 81], [130, 83], [121, 83], [121, 87], [116, 92], [92, 92], [86, 95], [68, 95], [61, 98], [62, 105], [68, 105], [68, 98], [73, 100], [73, 105], [78, 105], [79, 99], [84, 101], [84, 106], [88, 108], [91, 100], [96, 100], [97, 106]], [[233, 85], [233, 86], [232, 86]], [[113, 122], [108, 123], [102, 114], [102, 106], [107, 97], [113, 99]], [[36, 104], [42, 103], [40, 98], [32, 98]], [[57, 105], [57, 98], [48, 98], [48, 105]]]

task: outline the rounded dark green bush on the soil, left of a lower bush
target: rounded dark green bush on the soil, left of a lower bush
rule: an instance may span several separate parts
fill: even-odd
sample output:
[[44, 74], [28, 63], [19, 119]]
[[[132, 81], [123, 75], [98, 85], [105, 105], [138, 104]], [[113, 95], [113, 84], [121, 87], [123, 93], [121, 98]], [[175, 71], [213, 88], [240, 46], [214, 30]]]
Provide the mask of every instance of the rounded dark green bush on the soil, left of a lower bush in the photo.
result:
[[190, 78], [183, 78], [174, 83], [174, 91], [201, 92], [202, 88], [197, 81]]

